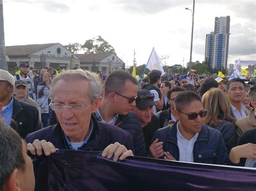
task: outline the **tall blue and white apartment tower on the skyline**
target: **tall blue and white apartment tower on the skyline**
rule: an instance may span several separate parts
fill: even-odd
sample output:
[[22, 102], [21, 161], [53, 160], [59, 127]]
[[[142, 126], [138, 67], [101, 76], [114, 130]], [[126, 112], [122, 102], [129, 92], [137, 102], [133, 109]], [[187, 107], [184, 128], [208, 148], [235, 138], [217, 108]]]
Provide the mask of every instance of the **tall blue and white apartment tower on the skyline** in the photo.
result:
[[215, 17], [214, 32], [206, 34], [205, 62], [212, 68], [227, 68], [230, 16]]

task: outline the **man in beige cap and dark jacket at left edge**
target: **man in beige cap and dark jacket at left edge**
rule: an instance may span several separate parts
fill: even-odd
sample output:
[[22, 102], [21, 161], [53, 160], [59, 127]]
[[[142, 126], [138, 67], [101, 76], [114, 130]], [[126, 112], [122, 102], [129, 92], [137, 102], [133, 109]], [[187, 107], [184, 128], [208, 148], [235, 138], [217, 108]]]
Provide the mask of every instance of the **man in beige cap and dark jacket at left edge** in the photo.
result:
[[28, 133], [42, 129], [37, 108], [31, 104], [18, 101], [12, 96], [15, 80], [9, 72], [0, 69], [0, 104], [4, 123], [15, 129], [22, 138]]

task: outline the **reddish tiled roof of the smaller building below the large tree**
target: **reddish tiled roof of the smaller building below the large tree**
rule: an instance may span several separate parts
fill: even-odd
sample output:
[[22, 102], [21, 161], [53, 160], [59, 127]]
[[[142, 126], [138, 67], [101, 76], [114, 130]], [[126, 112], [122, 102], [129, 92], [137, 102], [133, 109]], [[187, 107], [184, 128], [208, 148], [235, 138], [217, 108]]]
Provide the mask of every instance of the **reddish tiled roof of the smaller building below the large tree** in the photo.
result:
[[98, 54], [91, 53], [91, 54], [75, 54], [75, 55], [81, 60], [81, 62], [91, 63], [93, 62], [93, 60], [95, 60], [96, 62], [99, 62], [111, 54], [114, 54], [114, 53], [107, 52], [107, 53], [98, 53]]

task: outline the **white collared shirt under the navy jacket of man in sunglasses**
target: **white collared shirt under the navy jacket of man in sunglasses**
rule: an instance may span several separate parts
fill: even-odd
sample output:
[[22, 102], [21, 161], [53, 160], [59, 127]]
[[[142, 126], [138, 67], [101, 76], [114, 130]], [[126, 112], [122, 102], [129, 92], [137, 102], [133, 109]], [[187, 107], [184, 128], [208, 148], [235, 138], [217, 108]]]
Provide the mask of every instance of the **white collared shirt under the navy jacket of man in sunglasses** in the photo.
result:
[[179, 161], [194, 162], [193, 148], [199, 133], [196, 133], [190, 140], [185, 139], [179, 131], [177, 123], [177, 144], [179, 147]]

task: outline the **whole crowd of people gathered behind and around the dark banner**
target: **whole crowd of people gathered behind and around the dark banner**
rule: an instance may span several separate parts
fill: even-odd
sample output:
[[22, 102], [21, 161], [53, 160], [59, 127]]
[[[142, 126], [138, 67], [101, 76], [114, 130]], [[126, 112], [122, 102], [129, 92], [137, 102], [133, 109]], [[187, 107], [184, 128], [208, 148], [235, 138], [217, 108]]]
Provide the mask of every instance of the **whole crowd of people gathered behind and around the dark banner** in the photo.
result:
[[21, 63], [14, 76], [0, 69], [0, 190], [35, 186], [23, 180], [33, 173], [26, 150], [256, 167], [254, 78], [151, 70], [138, 82], [123, 70], [30, 69]]

